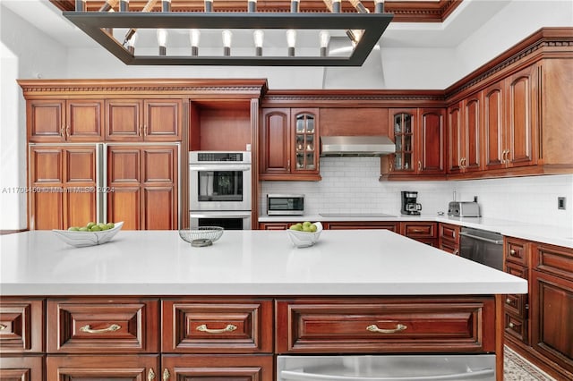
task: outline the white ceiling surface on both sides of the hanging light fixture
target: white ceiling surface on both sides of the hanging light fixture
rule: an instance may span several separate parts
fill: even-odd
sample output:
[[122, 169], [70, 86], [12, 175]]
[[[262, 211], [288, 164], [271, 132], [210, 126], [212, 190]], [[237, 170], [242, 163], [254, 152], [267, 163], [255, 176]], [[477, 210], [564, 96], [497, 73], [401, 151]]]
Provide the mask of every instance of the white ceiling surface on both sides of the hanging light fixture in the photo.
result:
[[[381, 45], [457, 47], [511, 1], [464, 0], [442, 23], [392, 22], [381, 38]], [[64, 19], [56, 6], [47, 0], [0, 0], [0, 3], [66, 47], [98, 47], [96, 42]]]

